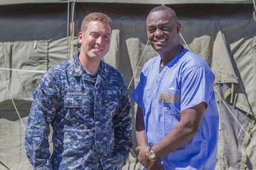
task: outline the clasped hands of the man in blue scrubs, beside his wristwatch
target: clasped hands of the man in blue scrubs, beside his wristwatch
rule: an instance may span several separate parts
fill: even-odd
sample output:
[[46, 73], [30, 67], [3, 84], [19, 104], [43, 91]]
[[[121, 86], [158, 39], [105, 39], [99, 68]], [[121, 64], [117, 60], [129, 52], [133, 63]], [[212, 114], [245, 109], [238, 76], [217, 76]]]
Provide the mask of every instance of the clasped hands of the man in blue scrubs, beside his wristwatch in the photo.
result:
[[140, 161], [141, 165], [147, 168], [147, 170], [150, 170], [156, 161], [150, 161], [150, 159], [147, 158], [146, 149], [148, 147], [149, 146], [137, 146], [135, 150], [138, 151], [138, 161]]

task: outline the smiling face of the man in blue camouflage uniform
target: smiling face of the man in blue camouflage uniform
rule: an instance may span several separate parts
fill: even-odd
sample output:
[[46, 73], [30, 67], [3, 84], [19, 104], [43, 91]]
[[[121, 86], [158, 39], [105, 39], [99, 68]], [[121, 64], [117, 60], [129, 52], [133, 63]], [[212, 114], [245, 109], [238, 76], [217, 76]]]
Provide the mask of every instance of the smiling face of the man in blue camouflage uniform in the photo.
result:
[[86, 60], [100, 61], [110, 46], [111, 27], [103, 21], [90, 21], [86, 30], [78, 33], [81, 44], [80, 56]]

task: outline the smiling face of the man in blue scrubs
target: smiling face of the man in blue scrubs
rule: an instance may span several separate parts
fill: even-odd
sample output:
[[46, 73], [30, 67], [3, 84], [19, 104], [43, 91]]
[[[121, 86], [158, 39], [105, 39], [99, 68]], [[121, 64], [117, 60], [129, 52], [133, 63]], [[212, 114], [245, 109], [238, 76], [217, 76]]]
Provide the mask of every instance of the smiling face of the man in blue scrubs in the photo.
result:
[[170, 55], [179, 46], [181, 24], [169, 10], [150, 12], [147, 17], [147, 36], [151, 46], [162, 56]]

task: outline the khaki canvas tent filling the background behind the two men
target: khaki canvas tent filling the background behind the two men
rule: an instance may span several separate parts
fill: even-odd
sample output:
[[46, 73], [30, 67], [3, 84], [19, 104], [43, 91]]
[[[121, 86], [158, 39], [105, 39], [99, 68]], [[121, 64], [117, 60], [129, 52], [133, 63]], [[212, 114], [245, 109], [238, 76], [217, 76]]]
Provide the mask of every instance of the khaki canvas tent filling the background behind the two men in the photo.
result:
[[[162, 4], [178, 14], [180, 43], [203, 57], [216, 75], [216, 169], [256, 169], [254, 0], [0, 1], [0, 169], [32, 169], [24, 149], [31, 95], [43, 72], [79, 50], [83, 17], [97, 11], [112, 18], [104, 60], [124, 74], [132, 92], [144, 63], [156, 55], [147, 43], [146, 15]], [[134, 135], [132, 150], [136, 145]], [[131, 151], [123, 169], [140, 169], [136, 156]]]

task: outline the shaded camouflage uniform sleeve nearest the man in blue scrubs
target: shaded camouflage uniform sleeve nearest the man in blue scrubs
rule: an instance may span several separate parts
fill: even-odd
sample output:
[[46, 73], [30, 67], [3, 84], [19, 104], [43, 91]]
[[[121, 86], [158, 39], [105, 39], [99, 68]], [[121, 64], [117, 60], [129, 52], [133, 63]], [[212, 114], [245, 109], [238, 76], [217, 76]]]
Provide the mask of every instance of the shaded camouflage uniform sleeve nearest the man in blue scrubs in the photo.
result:
[[131, 101], [126, 85], [121, 95], [121, 108], [113, 118], [113, 123], [115, 126], [115, 150], [122, 154], [125, 165], [132, 147]]

